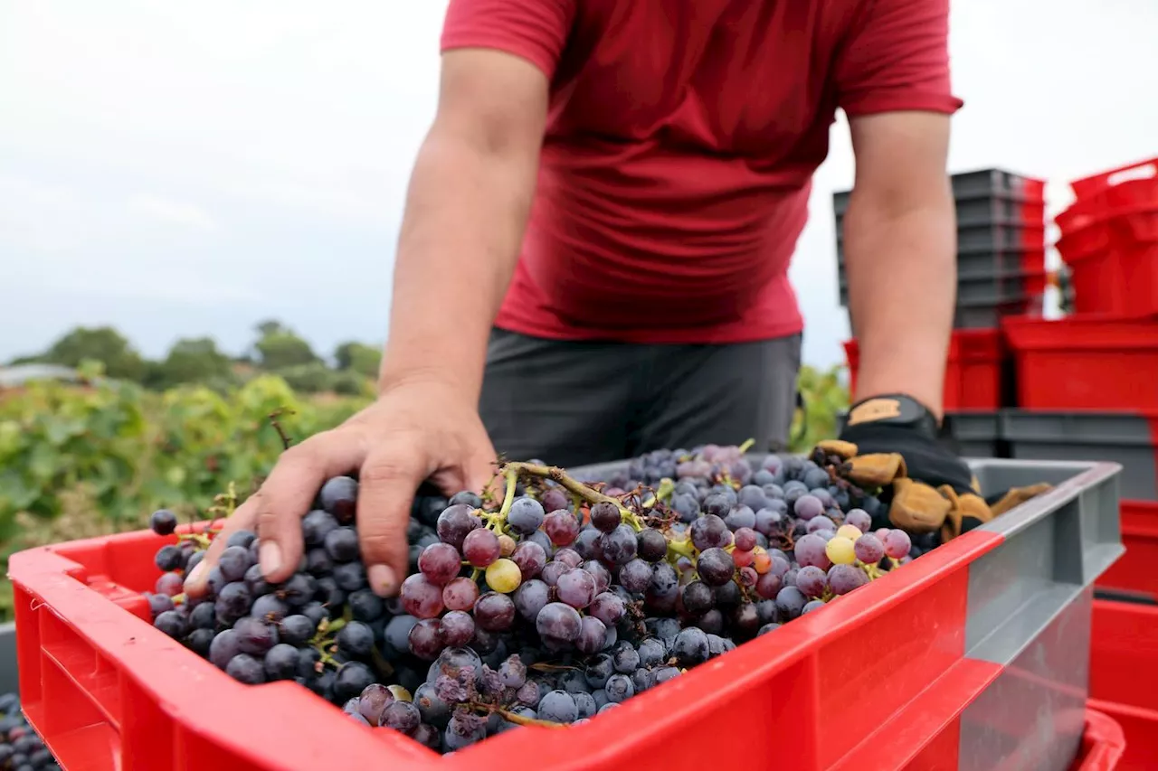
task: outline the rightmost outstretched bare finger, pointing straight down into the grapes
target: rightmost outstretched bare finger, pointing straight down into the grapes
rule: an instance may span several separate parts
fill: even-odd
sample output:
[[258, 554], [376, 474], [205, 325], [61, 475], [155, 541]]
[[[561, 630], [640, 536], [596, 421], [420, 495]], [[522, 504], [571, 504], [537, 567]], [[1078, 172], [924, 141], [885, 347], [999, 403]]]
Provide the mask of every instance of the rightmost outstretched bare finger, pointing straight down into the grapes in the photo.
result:
[[371, 588], [398, 590], [410, 564], [406, 523], [415, 490], [433, 471], [413, 445], [391, 441], [362, 464], [358, 484], [358, 536]]

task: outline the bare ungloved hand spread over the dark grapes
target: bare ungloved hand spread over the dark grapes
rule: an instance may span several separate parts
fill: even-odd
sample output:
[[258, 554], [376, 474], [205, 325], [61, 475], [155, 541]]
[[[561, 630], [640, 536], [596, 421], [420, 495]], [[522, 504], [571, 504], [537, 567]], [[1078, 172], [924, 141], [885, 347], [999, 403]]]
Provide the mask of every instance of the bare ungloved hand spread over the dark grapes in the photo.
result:
[[460, 390], [428, 381], [397, 386], [337, 428], [287, 449], [261, 490], [226, 521], [185, 592], [205, 592], [229, 535], [247, 529], [261, 537], [266, 580], [288, 579], [302, 556], [300, 520], [317, 491], [331, 477], [359, 471], [357, 522], [366, 577], [375, 593], [393, 595], [406, 577], [406, 523], [418, 485], [428, 479], [446, 495], [482, 492], [494, 461], [478, 410]]

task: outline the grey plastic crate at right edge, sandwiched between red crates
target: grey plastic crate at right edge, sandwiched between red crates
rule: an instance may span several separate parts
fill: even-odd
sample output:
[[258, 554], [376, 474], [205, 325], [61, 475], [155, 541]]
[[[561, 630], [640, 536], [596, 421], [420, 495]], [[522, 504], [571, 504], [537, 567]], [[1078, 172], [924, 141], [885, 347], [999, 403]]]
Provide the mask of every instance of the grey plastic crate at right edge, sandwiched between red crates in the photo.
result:
[[1158, 500], [1158, 446], [1146, 416], [1004, 410], [1002, 435], [1014, 458], [1120, 463], [1123, 498]]

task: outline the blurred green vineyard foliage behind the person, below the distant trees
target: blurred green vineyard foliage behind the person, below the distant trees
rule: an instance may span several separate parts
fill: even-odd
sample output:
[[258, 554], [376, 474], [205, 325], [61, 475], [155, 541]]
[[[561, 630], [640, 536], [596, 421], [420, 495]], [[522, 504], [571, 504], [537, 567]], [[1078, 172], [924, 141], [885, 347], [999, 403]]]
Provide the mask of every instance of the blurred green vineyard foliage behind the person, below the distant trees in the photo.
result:
[[[848, 405], [838, 370], [805, 367], [793, 449], [831, 436]], [[248, 494], [283, 449], [371, 396], [302, 395], [277, 375], [226, 390], [151, 391], [124, 381], [37, 382], [0, 392], [0, 559], [35, 545], [146, 527], [162, 506], [204, 512], [230, 483]], [[271, 418], [271, 416], [274, 416]], [[10, 587], [0, 585], [0, 619]]]

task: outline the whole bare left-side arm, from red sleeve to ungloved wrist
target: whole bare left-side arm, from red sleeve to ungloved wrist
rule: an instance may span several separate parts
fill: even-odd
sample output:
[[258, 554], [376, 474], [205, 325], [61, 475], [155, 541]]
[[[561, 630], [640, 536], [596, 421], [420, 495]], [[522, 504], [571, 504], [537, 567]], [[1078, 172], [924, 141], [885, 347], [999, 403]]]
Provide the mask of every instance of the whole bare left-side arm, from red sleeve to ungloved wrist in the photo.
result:
[[525, 59], [444, 54], [438, 115], [402, 221], [380, 390], [437, 377], [477, 402], [530, 211], [547, 102], [547, 76]]

